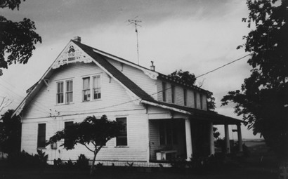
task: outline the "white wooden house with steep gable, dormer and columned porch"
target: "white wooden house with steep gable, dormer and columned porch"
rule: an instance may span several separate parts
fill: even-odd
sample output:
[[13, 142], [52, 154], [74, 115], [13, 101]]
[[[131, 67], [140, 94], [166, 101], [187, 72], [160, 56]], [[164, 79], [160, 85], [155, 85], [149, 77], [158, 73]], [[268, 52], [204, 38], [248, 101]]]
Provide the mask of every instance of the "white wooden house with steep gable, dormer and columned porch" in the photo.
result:
[[126, 133], [107, 142], [97, 162], [158, 166], [159, 160], [172, 157], [214, 154], [213, 125], [225, 125], [227, 146], [228, 125], [238, 126], [241, 139], [241, 121], [207, 111], [208, 93], [156, 72], [153, 65], [141, 67], [81, 44], [77, 37], [27, 90], [14, 114], [22, 119], [22, 150], [34, 154], [41, 149], [51, 163], [75, 160], [79, 154], [92, 159], [81, 145], [67, 151], [59, 147], [63, 141], [53, 146], [45, 141], [72, 122], [106, 114], [124, 121]]

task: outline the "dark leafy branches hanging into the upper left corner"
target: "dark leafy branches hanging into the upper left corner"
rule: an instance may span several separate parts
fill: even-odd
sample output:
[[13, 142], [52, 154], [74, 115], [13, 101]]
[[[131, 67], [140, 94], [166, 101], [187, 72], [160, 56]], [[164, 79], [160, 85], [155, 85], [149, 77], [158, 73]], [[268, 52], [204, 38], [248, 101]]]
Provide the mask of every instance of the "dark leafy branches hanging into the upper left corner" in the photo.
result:
[[[0, 8], [19, 10], [20, 3], [20, 0], [3, 0]], [[35, 49], [34, 45], [41, 43], [41, 37], [35, 32], [34, 22], [28, 18], [13, 22], [0, 15], [0, 29], [0, 70], [16, 62], [27, 63]], [[4, 58], [5, 53], [8, 54], [7, 60]], [[0, 73], [2, 74], [1, 71]]]

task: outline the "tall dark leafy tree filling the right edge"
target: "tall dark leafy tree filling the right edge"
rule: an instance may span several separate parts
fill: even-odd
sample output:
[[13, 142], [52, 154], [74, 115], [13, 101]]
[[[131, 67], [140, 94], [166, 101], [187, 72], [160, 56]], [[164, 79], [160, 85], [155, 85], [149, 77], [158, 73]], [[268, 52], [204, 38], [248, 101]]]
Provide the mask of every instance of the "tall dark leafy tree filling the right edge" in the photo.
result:
[[[239, 48], [251, 53], [251, 75], [240, 90], [230, 91], [222, 105], [235, 102], [254, 134], [260, 133], [280, 161], [288, 162], [288, 109], [285, 91], [288, 79], [288, 1], [247, 1], [251, 32]], [[286, 92], [287, 94], [287, 92]]]

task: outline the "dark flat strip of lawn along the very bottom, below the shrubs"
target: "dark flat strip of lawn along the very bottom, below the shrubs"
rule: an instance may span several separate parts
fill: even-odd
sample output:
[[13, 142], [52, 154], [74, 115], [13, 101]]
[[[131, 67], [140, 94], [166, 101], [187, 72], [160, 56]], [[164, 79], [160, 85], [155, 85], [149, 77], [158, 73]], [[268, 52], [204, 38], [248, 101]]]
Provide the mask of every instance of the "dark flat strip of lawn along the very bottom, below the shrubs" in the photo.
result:
[[140, 171], [98, 171], [94, 176], [89, 176], [89, 171], [72, 171], [72, 170], [55, 170], [45, 169], [44, 171], [35, 171], [32, 168], [30, 170], [6, 170], [0, 172], [0, 178], [41, 178], [41, 179], [57, 179], [57, 178], [195, 178], [195, 179], [240, 179], [240, 178], [253, 178], [253, 179], [273, 179], [277, 178], [277, 174], [270, 171], [262, 171], [261, 169], [229, 169], [227, 171], [214, 171], [209, 173], [190, 173], [190, 172], [175, 172], [175, 171], [152, 171], [152, 172], [140, 172]]

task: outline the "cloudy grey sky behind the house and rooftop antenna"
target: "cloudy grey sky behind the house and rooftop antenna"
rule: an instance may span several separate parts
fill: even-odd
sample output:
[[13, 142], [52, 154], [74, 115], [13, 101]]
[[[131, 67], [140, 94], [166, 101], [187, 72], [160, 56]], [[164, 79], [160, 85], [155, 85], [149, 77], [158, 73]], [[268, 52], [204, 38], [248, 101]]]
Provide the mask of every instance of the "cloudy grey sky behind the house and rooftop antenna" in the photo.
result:
[[[197, 77], [248, 54], [244, 49], [236, 50], [250, 30], [242, 22], [249, 13], [244, 0], [26, 0], [19, 11], [5, 8], [0, 13], [13, 21], [30, 18], [42, 38], [26, 65], [3, 69], [0, 98], [13, 100], [10, 109], [19, 105], [25, 91], [42, 77], [73, 37], [138, 63], [135, 26], [128, 20], [141, 21], [140, 65], [150, 67], [150, 61], [154, 61], [156, 71], [162, 74], [182, 69]], [[249, 77], [248, 58], [197, 79], [197, 85], [214, 93], [219, 114], [242, 119], [233, 113], [233, 104], [221, 107], [221, 98], [228, 91], [240, 89]], [[232, 139], [236, 136], [230, 134]], [[242, 125], [242, 138], [259, 135], [254, 136]]]

